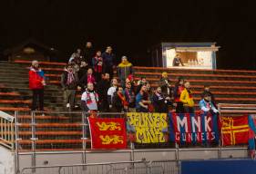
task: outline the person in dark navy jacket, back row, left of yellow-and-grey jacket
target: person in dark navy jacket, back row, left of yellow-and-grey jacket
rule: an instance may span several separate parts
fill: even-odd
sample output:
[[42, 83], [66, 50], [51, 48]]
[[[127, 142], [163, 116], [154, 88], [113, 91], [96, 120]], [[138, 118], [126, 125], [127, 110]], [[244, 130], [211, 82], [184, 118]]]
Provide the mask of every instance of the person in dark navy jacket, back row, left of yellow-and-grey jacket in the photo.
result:
[[106, 51], [102, 53], [102, 59], [104, 64], [104, 73], [109, 73], [110, 79], [113, 78], [113, 69], [116, 68], [116, 57], [112, 53], [112, 47], [108, 46]]

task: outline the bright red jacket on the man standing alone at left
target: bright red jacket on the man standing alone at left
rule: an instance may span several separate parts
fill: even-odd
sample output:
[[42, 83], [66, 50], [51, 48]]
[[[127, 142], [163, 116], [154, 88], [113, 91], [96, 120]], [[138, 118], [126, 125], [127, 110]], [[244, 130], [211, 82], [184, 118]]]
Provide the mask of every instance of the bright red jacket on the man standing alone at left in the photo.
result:
[[30, 90], [36, 90], [36, 89], [43, 89], [44, 85], [42, 84], [42, 81], [44, 81], [44, 78], [40, 76], [35, 69], [31, 69], [29, 71], [29, 89]]

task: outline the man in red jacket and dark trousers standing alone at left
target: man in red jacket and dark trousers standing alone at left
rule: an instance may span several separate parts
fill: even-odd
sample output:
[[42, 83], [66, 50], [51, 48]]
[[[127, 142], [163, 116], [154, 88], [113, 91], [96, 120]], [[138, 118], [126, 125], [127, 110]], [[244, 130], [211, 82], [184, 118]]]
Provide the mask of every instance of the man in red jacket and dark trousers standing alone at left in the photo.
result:
[[33, 93], [31, 110], [36, 111], [36, 109], [38, 109], [44, 111], [44, 86], [46, 85], [46, 81], [45, 74], [40, 69], [37, 61], [32, 62], [28, 75], [29, 89], [32, 90]]

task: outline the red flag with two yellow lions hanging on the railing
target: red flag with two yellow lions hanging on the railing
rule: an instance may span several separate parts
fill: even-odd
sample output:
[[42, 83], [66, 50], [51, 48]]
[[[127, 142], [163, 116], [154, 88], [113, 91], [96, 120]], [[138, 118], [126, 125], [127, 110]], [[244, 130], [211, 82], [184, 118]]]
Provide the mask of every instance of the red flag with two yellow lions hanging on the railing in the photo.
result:
[[92, 149], [126, 149], [124, 119], [89, 118]]

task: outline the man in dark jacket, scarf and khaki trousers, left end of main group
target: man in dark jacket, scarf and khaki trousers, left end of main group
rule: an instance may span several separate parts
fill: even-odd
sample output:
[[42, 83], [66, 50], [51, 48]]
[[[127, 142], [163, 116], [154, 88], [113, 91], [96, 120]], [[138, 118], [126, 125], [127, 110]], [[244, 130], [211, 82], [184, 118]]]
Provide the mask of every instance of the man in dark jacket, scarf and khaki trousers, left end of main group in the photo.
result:
[[66, 107], [69, 108], [70, 111], [73, 111], [75, 108], [75, 98], [78, 84], [78, 76], [77, 73], [74, 72], [73, 66], [71, 64], [67, 65], [67, 70], [61, 75], [61, 86], [64, 90], [64, 100]]

